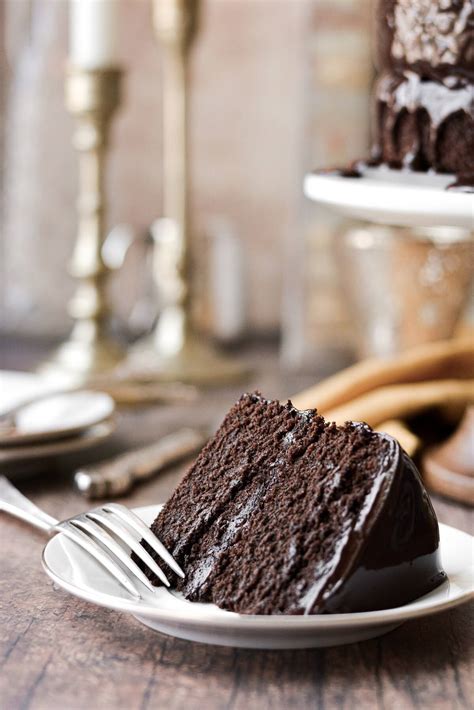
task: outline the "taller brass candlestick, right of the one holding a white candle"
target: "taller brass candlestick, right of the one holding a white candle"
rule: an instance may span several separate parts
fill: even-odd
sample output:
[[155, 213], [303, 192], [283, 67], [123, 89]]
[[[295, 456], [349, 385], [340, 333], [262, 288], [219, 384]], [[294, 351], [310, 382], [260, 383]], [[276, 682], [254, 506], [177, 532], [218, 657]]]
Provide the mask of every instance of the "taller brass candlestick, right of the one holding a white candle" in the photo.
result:
[[199, 2], [154, 0], [153, 7], [155, 31], [164, 49], [165, 219], [155, 247], [154, 270], [161, 312], [151, 337], [135, 347], [131, 363], [157, 379], [217, 384], [240, 378], [244, 370], [204, 341], [191, 320], [188, 67]]

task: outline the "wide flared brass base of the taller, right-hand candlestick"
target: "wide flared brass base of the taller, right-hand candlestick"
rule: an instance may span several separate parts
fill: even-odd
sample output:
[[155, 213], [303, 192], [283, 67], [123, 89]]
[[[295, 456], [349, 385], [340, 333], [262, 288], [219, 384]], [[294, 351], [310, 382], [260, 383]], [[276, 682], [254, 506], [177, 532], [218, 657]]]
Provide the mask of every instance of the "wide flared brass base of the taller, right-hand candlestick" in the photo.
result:
[[238, 382], [250, 372], [244, 363], [219, 353], [195, 333], [188, 334], [182, 347], [172, 354], [160, 352], [153, 337], [144, 339], [132, 349], [126, 367], [132, 376], [147, 380], [201, 386]]

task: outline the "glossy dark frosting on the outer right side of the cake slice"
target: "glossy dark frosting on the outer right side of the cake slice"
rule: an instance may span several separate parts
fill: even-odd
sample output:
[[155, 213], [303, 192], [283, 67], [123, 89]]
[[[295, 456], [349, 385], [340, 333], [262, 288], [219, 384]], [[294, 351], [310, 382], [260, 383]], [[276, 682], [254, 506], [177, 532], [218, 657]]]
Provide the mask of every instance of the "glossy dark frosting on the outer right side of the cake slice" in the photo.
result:
[[348, 537], [327, 591], [308, 613], [401, 606], [447, 579], [436, 514], [420, 475], [400, 445], [394, 439], [391, 443], [384, 483], [359, 530]]

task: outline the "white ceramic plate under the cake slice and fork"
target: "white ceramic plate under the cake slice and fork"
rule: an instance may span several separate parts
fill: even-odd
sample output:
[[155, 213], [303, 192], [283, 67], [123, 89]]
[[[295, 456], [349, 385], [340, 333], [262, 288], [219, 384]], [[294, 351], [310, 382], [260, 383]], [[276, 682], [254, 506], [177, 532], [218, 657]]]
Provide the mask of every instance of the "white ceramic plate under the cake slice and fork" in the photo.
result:
[[[137, 508], [150, 524], [161, 506]], [[161, 587], [133, 601], [100, 565], [61, 533], [43, 552], [43, 566], [60, 587], [82, 599], [130, 612], [139, 621], [170, 636], [242, 648], [311, 648], [374, 638], [409, 619], [434, 614], [474, 595], [474, 538], [440, 525], [441, 555], [449, 582], [425, 597], [396, 609], [321, 616], [250, 616], [196, 604]]]

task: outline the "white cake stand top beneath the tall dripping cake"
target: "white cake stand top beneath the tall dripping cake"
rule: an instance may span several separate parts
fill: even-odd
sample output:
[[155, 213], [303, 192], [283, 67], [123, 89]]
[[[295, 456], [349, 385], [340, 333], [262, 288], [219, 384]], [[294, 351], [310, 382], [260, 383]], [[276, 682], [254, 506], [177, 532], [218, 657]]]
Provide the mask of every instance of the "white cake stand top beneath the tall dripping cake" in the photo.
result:
[[363, 177], [311, 173], [307, 197], [346, 217], [408, 227], [474, 227], [474, 194], [446, 190], [453, 175], [415, 173], [380, 166]]

